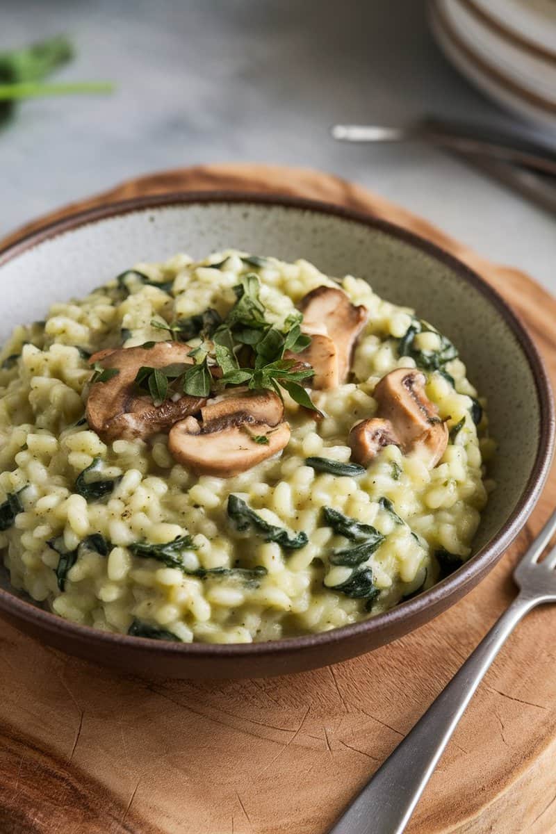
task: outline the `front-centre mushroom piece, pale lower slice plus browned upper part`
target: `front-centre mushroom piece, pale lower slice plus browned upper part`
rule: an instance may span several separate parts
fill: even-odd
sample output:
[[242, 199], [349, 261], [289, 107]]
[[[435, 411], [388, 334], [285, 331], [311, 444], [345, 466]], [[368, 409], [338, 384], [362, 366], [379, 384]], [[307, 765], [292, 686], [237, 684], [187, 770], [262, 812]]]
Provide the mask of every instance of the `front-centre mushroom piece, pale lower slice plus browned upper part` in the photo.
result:
[[198, 475], [230, 478], [288, 445], [289, 425], [280, 423], [283, 405], [272, 391], [225, 397], [203, 408], [202, 415], [202, 423], [180, 420], [168, 438], [170, 454]]

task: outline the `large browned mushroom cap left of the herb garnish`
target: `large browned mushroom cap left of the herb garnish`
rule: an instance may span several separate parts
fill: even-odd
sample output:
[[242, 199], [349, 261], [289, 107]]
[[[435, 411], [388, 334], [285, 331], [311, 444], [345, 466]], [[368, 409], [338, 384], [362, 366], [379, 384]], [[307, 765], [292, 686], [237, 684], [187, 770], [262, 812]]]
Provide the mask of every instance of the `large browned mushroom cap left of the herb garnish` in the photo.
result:
[[152, 348], [122, 348], [99, 351], [90, 362], [103, 368], [116, 368], [118, 374], [107, 382], [91, 385], [86, 416], [88, 425], [109, 443], [118, 438], [146, 438], [158, 431], [168, 430], [188, 414], [195, 414], [206, 399], [184, 394], [180, 399], [168, 399], [154, 405], [148, 395], [138, 394], [134, 380], [143, 365], [163, 368], [168, 364], [192, 364], [187, 344], [158, 342]]

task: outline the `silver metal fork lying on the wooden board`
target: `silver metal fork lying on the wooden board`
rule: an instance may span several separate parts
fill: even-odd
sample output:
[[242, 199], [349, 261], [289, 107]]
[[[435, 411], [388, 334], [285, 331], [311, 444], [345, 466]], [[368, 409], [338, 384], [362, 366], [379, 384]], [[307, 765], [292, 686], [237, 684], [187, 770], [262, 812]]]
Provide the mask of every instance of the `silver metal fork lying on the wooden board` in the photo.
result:
[[401, 834], [458, 721], [513, 629], [536, 605], [556, 602], [556, 547], [538, 561], [556, 531], [556, 511], [513, 571], [519, 593], [355, 797], [328, 834]]

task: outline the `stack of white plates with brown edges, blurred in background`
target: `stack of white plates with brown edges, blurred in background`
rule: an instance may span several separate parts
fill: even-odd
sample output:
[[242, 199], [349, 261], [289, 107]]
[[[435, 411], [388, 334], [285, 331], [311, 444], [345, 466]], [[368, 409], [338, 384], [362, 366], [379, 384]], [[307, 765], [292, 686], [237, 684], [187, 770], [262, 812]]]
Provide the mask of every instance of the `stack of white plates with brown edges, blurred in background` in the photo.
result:
[[447, 58], [503, 108], [556, 132], [556, 0], [431, 0]]

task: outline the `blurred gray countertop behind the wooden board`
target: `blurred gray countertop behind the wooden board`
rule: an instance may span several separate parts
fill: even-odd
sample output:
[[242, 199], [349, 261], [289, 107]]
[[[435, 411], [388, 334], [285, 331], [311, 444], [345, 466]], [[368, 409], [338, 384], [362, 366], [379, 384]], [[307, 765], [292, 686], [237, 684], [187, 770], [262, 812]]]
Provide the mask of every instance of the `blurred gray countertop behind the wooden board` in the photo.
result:
[[334, 143], [335, 121], [423, 113], [500, 123], [445, 62], [422, 0], [3, 0], [0, 48], [68, 33], [59, 78], [108, 97], [26, 103], [0, 131], [0, 234], [162, 168], [254, 160], [323, 168], [422, 214], [556, 291], [556, 221], [434, 148]]

